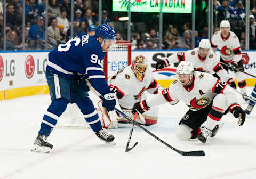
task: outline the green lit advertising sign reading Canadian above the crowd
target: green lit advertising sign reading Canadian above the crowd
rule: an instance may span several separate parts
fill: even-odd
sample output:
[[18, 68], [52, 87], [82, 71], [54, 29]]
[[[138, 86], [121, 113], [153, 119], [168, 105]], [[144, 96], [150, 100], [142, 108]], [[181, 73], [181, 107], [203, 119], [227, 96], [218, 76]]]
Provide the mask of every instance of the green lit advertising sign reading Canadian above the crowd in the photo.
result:
[[[161, 0], [131, 0], [131, 12], [160, 12]], [[129, 0], [113, 0], [113, 11], [128, 11]], [[192, 0], [163, 0], [163, 13], [191, 13]]]

